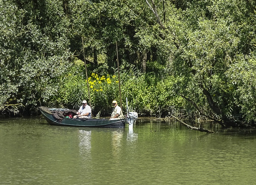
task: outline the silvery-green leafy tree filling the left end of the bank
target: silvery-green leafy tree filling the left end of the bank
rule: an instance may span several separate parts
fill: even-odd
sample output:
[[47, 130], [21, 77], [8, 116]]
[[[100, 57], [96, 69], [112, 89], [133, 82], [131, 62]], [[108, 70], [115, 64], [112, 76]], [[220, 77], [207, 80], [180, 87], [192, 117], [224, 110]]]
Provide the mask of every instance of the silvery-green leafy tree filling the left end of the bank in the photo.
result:
[[[38, 3], [3, 1], [0, 5], [2, 108], [16, 111], [12, 104], [48, 102], [48, 97], [56, 92], [56, 77], [69, 65], [66, 20], [59, 18], [60, 7], [51, 1]], [[59, 24], [53, 24], [55, 21]]]

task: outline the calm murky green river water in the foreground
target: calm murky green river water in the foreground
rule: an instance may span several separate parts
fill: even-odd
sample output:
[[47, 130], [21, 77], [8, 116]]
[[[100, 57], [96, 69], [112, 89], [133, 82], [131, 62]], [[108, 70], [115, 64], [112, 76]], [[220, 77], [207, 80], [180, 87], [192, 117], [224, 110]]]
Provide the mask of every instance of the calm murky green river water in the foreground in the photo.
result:
[[145, 119], [129, 131], [1, 118], [0, 184], [255, 183], [256, 130], [212, 129]]

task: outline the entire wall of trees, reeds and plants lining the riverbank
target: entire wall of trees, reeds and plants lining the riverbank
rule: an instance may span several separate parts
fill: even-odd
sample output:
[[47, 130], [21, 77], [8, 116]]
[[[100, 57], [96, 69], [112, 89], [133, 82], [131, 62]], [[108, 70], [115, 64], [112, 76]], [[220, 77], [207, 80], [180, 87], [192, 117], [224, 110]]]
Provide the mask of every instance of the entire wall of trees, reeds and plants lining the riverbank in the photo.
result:
[[121, 101], [140, 117], [256, 126], [253, 0], [5, 0], [0, 12], [3, 115], [78, 109], [85, 63], [93, 114], [110, 115], [118, 57]]

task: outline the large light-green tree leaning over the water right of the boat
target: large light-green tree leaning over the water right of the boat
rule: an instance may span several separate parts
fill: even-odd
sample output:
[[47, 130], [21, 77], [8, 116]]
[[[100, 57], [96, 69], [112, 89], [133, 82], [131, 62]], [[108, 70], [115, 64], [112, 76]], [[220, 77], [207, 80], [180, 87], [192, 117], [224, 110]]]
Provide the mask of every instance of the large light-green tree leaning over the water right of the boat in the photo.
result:
[[[152, 10], [160, 27], [163, 30], [169, 28], [165, 33], [171, 34], [171, 44], [177, 48], [176, 51], [172, 50], [175, 51], [174, 60], [171, 61], [173, 68], [169, 69], [179, 78], [179, 94], [192, 102], [202, 115], [224, 127], [243, 126], [246, 119], [244, 114], [240, 114], [242, 112], [234, 96], [237, 91], [234, 88], [237, 87], [229, 81], [227, 74], [231, 64], [239, 61], [238, 54], [247, 55], [247, 48], [254, 50], [255, 46], [250, 42], [254, 36], [249, 30], [255, 29], [255, 11], [248, 8], [253, 7], [248, 6], [249, 1], [197, 2], [187, 1], [189, 6], [179, 5], [184, 9], [182, 13], [173, 6], [167, 7], [167, 14], [176, 12], [176, 18], [167, 17], [166, 26], [162, 26]], [[168, 21], [168, 18], [172, 19]], [[243, 90], [246, 88], [243, 87]], [[209, 110], [202, 111], [197, 106], [204, 107], [205, 102], [211, 116], [203, 113]]]

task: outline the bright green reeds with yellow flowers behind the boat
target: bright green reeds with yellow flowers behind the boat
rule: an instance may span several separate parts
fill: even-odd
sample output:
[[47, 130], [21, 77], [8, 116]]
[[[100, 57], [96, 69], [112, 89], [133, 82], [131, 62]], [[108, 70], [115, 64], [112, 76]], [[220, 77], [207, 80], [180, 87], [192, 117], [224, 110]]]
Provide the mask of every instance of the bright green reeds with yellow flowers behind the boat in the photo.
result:
[[[82, 100], [89, 102], [87, 80], [84, 74], [76, 72], [76, 67], [58, 79], [59, 89], [51, 97], [49, 104], [56, 107], [75, 108]], [[138, 70], [121, 70], [121, 98], [123, 111], [126, 112], [126, 97], [129, 111], [136, 111], [140, 116], [165, 116], [171, 114], [173, 107], [184, 111], [184, 102], [173, 92], [175, 79], [157, 78], [154, 74], [140, 73]], [[111, 102], [120, 104], [119, 81], [115, 74], [88, 74], [88, 84], [93, 115], [100, 112], [101, 116], [111, 114]]]

